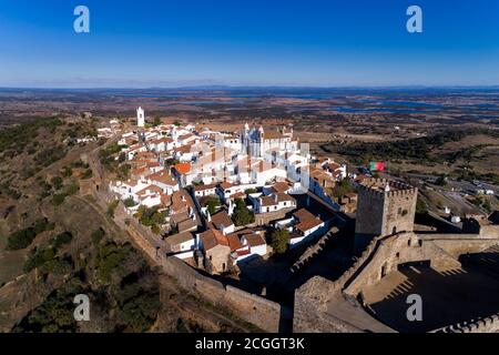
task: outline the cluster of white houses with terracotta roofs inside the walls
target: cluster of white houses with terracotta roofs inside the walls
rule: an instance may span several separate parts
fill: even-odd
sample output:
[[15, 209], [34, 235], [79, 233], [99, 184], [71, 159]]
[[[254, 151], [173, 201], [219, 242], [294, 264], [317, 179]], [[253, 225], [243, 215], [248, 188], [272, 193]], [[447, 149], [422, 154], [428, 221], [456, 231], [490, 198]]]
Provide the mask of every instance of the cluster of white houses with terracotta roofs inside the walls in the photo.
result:
[[289, 247], [325, 234], [330, 219], [309, 209], [309, 194], [335, 210], [355, 211], [355, 194], [343, 204], [332, 195], [347, 178], [346, 166], [310, 156], [293, 126], [146, 128], [139, 108], [136, 126], [122, 132], [118, 145], [131, 169], [128, 179], [110, 181], [110, 190], [131, 217], [161, 214], [152, 230], [169, 253], [210, 273], [266, 258], [268, 231], [285, 230]]

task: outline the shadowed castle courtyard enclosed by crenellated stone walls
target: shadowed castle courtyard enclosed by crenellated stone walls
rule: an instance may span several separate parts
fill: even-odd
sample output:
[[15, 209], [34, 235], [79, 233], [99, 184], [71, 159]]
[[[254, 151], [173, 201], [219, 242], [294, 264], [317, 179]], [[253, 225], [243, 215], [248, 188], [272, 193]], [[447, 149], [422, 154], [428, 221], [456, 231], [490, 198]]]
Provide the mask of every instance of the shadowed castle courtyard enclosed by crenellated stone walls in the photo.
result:
[[[406, 300], [422, 300], [422, 321], [409, 322]], [[479, 266], [437, 271], [428, 265], [405, 265], [364, 290], [375, 316], [399, 332], [430, 332], [450, 324], [479, 320], [499, 312], [499, 281]]]

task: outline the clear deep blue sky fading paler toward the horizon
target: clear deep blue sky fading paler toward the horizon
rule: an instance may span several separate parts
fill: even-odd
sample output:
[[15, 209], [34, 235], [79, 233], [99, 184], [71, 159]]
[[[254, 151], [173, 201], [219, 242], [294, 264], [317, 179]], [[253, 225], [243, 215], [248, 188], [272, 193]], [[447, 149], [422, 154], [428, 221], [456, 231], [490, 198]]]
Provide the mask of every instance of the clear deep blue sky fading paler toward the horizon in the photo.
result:
[[499, 1], [0, 1], [0, 87], [196, 84], [497, 85]]

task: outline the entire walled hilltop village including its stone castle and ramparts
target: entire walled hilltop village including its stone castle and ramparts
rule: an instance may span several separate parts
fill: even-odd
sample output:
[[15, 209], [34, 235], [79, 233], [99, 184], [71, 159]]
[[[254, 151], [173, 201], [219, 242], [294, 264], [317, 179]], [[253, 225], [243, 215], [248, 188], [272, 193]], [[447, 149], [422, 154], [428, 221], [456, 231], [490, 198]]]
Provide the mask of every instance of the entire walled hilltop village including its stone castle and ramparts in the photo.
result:
[[184, 287], [269, 332], [499, 329], [497, 211], [429, 211], [434, 187], [313, 155], [291, 124], [151, 121], [99, 130], [90, 190]]

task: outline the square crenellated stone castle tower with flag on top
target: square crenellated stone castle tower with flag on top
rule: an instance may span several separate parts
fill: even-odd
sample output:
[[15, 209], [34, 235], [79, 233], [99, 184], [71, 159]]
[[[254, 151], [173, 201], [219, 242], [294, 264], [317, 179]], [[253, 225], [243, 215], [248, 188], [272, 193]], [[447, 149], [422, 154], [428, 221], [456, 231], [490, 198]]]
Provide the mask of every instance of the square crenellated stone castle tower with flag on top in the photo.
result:
[[365, 180], [358, 190], [355, 251], [373, 237], [411, 232], [418, 189], [386, 179]]

